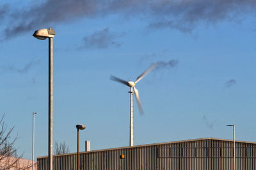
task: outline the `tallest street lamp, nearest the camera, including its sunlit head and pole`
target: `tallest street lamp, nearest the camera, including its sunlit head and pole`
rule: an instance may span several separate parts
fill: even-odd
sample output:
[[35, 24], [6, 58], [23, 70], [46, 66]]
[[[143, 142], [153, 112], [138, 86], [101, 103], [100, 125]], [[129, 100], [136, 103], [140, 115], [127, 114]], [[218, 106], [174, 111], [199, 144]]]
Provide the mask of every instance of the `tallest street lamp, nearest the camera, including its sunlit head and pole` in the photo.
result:
[[54, 38], [55, 31], [49, 29], [39, 29], [33, 34], [38, 39], [49, 39], [49, 129], [48, 129], [48, 169], [52, 170], [52, 40]]

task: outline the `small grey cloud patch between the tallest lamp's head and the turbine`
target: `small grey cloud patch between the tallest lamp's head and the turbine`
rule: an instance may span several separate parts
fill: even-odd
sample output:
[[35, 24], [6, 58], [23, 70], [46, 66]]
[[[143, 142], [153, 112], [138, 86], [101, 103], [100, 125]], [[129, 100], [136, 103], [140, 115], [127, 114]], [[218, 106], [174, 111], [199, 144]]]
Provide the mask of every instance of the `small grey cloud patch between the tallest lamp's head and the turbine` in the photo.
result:
[[96, 31], [90, 36], [84, 37], [83, 48], [108, 48], [108, 46], [120, 46], [115, 39], [122, 35], [112, 34], [108, 28]]

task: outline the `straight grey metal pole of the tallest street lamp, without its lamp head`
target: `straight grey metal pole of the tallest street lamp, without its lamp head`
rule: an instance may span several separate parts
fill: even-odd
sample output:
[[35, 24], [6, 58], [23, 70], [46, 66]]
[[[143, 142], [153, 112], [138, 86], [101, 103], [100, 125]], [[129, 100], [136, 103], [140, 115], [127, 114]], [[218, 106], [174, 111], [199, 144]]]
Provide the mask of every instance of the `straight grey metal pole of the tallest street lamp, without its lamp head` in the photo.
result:
[[52, 57], [52, 40], [49, 38], [49, 142], [48, 142], [48, 162], [49, 170], [52, 170], [52, 67], [53, 67], [53, 57]]

